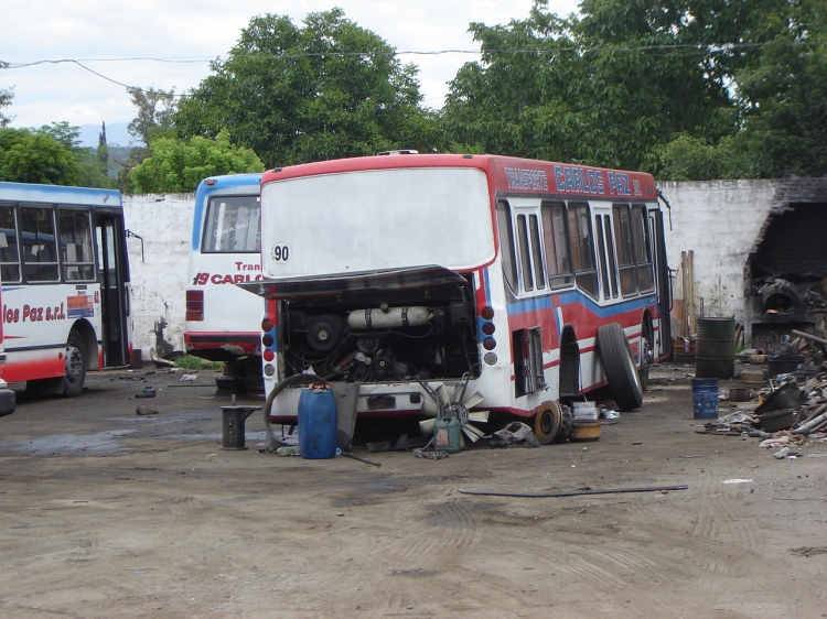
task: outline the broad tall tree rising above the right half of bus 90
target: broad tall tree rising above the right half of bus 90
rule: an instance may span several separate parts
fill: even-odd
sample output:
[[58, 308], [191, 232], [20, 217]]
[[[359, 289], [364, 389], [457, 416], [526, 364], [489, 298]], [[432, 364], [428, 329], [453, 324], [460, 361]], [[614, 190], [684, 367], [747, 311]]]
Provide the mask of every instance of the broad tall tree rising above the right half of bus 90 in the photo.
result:
[[483, 57], [451, 83], [448, 139], [656, 172], [680, 135], [715, 144], [739, 131], [734, 75], [747, 44], [783, 31], [790, 1], [583, 0], [559, 18], [535, 0], [526, 20], [471, 24]]

